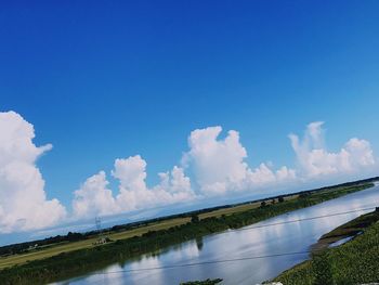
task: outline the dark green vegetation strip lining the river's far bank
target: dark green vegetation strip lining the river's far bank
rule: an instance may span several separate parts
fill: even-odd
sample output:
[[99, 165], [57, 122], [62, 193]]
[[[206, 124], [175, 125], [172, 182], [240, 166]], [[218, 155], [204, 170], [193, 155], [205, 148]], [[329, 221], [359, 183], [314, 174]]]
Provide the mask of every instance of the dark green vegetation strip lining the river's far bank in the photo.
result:
[[[110, 243], [104, 245], [91, 245], [90, 247], [61, 252], [26, 263], [24, 261], [24, 263], [2, 269], [0, 271], [0, 281], [4, 285], [45, 284], [102, 270], [116, 262], [122, 265], [133, 258], [141, 258], [141, 255], [144, 254], [157, 252], [159, 255], [159, 250], [175, 244], [200, 239], [206, 235], [228, 229], [243, 228], [282, 213], [310, 207], [325, 200], [371, 187], [375, 185], [373, 182], [377, 181], [377, 179], [303, 191], [287, 196], [277, 196], [276, 198], [271, 197], [254, 202], [259, 203], [258, 207], [252, 207], [244, 211], [231, 211], [228, 215], [201, 217], [201, 215], [209, 215], [209, 212], [195, 211], [183, 213], [191, 215], [191, 218], [186, 217], [187, 222], [168, 229], [149, 230], [141, 235], [134, 235], [123, 239], [115, 241], [112, 238], [113, 241]], [[291, 198], [288, 198], [289, 196]], [[19, 256], [22, 257], [23, 254]]]

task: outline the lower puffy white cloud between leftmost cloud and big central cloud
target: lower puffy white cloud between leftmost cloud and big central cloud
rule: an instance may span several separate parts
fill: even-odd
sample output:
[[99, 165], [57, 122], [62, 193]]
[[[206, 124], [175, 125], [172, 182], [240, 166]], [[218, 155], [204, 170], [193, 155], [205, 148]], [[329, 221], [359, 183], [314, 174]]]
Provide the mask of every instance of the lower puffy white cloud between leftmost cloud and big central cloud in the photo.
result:
[[148, 187], [146, 161], [140, 156], [118, 158], [112, 176], [118, 181], [118, 194], [113, 195], [104, 171], [89, 178], [75, 192], [73, 202], [76, 217], [93, 217], [138, 210], [180, 202], [190, 202], [196, 196], [190, 178], [182, 168], [159, 173], [160, 182]]

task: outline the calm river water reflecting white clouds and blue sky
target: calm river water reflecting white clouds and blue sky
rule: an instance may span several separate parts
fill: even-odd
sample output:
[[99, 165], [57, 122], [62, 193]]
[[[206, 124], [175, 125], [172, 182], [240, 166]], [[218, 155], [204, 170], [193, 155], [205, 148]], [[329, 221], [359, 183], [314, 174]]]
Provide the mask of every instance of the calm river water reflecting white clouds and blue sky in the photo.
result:
[[[379, 206], [379, 186], [297, 210], [289, 215], [278, 216], [256, 225], [280, 223], [375, 206]], [[222, 284], [257, 284], [278, 275], [282, 271], [308, 259], [309, 256], [302, 254], [175, 269], [122, 271], [306, 251], [321, 235], [364, 212], [366, 211], [260, 229], [226, 231], [202, 239], [169, 247], [154, 255], [144, 255], [139, 259], [129, 260], [122, 264], [116, 263], [105, 270], [92, 272], [86, 276], [73, 278], [61, 284], [167, 285], [179, 284], [183, 281], [215, 277], [223, 278], [224, 282]]]

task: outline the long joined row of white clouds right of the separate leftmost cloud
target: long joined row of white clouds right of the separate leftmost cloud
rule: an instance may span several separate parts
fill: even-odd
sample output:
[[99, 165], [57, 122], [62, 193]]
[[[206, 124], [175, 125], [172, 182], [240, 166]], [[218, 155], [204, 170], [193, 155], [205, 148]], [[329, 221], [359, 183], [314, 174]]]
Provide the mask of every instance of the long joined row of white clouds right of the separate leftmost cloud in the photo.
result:
[[373, 150], [365, 140], [351, 139], [339, 152], [328, 152], [323, 122], [318, 121], [306, 127], [302, 139], [289, 135], [296, 153], [295, 168], [275, 169], [271, 163], [250, 167], [239, 133], [231, 130], [220, 138], [221, 133], [219, 126], [191, 132], [182, 167], [159, 173], [160, 182], [152, 187], [146, 184], [147, 164], [141, 156], [116, 159], [112, 176], [119, 183], [117, 194], [107, 187], [103, 171], [93, 176], [75, 192], [76, 216], [126, 212], [236, 192], [263, 193], [264, 189], [356, 173], [375, 165]]

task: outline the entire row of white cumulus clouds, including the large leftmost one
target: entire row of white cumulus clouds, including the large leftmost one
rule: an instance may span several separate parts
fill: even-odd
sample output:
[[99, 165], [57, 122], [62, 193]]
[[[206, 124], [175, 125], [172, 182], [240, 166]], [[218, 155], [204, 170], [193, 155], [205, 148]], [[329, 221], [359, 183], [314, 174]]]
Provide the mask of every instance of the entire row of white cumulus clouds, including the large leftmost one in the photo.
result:
[[[140, 156], [115, 160], [109, 186], [105, 171], [88, 178], [74, 192], [71, 219], [93, 218], [157, 206], [187, 203], [235, 193], [262, 193], [334, 176], [363, 174], [377, 167], [369, 142], [353, 138], [341, 150], [329, 152], [323, 122], [312, 122], [303, 138], [290, 134], [296, 166], [275, 169], [271, 163], [250, 167], [239, 133], [220, 138], [221, 127], [197, 129], [188, 137], [181, 167], [159, 173], [154, 186], [146, 183], [146, 161]], [[56, 224], [66, 217], [56, 199], [49, 200], [36, 160], [51, 145], [36, 146], [34, 127], [14, 112], [0, 113], [0, 233]]]

